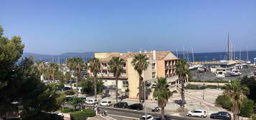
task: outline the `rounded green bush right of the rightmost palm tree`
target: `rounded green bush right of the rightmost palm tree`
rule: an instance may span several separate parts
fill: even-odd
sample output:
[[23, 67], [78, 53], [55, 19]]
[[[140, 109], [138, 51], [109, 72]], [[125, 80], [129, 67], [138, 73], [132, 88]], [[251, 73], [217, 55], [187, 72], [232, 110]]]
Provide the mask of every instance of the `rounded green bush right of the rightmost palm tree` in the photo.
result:
[[252, 99], [244, 99], [241, 105], [240, 115], [250, 117], [253, 114], [254, 101]]

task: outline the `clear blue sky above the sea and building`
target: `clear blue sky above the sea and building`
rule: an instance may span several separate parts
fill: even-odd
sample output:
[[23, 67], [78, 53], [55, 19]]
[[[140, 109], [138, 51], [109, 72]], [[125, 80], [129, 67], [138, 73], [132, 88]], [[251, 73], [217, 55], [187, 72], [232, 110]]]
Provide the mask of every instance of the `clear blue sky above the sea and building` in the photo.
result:
[[255, 0], [1, 0], [4, 36], [25, 52], [256, 49]]

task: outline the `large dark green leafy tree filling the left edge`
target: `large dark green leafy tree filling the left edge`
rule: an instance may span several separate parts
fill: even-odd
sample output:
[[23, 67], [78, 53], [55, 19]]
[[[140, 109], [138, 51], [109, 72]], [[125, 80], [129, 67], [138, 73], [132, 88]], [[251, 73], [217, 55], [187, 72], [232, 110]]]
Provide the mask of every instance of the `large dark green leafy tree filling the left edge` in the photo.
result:
[[[8, 39], [2, 35], [0, 26], [0, 116], [6, 111], [18, 111], [18, 106], [22, 106], [22, 119], [42, 119], [46, 111], [58, 109], [58, 95], [52, 86], [40, 81], [33, 58], [17, 62], [24, 49], [21, 38]], [[12, 104], [14, 101], [19, 104]]]

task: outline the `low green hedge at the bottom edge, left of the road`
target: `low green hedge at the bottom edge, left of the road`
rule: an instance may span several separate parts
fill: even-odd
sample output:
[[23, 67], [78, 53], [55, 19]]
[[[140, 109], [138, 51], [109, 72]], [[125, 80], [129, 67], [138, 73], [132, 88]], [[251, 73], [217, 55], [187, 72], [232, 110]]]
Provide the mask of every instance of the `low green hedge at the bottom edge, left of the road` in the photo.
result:
[[71, 120], [85, 120], [87, 117], [93, 117], [95, 116], [95, 111], [90, 109], [85, 109], [83, 111], [75, 111], [72, 114], [70, 114]]

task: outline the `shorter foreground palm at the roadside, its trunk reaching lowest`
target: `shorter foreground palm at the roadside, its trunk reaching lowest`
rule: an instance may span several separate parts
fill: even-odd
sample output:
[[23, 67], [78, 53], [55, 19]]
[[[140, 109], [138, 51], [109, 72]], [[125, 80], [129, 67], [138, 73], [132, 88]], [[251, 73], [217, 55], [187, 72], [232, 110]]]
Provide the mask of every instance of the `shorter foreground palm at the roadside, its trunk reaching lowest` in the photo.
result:
[[157, 78], [155, 86], [153, 86], [153, 97], [158, 100], [158, 106], [161, 107], [161, 119], [164, 119], [164, 107], [168, 103], [168, 99], [172, 96], [172, 92], [169, 89], [169, 84], [166, 78]]

